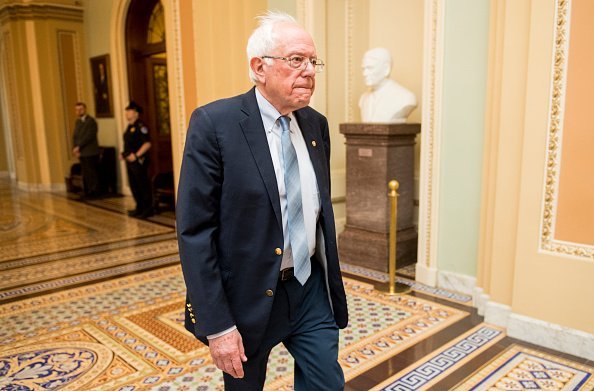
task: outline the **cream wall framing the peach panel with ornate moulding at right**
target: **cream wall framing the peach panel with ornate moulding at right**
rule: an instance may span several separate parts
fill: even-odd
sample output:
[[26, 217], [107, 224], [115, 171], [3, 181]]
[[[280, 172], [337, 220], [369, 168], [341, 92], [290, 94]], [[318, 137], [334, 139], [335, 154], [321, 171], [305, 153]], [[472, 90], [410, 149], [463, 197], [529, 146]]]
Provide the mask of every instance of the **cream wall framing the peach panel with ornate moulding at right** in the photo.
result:
[[555, 3], [492, 3], [477, 282], [490, 300], [487, 321], [501, 320], [498, 309], [507, 308], [512, 316], [593, 333], [592, 257], [542, 248], [543, 200], [550, 196], [545, 151], [559, 109], [551, 86], [553, 75], [564, 73], [562, 62], [552, 66]]

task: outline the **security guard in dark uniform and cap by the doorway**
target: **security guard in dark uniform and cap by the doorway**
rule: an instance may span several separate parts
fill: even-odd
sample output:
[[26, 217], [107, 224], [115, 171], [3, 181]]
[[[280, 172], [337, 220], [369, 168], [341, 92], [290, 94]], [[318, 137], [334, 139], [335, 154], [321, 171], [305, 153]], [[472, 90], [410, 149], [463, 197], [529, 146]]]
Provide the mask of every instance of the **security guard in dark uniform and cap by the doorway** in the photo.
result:
[[131, 101], [126, 106], [128, 127], [124, 133], [124, 151], [122, 159], [126, 160], [128, 181], [132, 195], [136, 201], [136, 209], [129, 210], [128, 215], [145, 219], [153, 215], [153, 193], [148, 175], [149, 149], [151, 141], [146, 125], [138, 118], [142, 107]]

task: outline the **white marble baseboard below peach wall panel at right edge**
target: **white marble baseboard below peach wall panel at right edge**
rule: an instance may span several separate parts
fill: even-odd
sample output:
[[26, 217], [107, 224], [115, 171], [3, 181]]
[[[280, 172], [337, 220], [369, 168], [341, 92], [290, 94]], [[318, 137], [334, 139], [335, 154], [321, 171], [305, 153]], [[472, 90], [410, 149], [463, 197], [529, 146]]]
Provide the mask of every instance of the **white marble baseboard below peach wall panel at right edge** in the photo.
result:
[[594, 335], [585, 331], [512, 313], [507, 334], [512, 338], [594, 360]]

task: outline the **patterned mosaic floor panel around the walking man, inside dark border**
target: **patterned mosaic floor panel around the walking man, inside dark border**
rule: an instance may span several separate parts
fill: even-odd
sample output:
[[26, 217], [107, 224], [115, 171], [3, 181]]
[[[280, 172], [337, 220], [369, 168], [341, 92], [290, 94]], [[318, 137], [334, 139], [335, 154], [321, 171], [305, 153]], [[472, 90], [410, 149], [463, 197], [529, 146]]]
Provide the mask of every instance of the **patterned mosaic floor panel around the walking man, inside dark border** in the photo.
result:
[[[345, 283], [352, 320], [341, 333], [340, 362], [347, 379], [468, 316], [412, 296], [387, 296], [355, 280]], [[0, 368], [14, 385], [62, 378], [92, 388], [100, 382], [87, 374], [93, 365], [63, 365], [90, 360], [107, 363], [92, 373], [111, 374], [109, 384], [118, 389], [217, 389], [221, 376], [207, 349], [181, 327], [183, 303], [181, 270], [171, 266], [5, 304]], [[42, 373], [34, 371], [41, 367]], [[288, 353], [275, 349], [267, 388], [290, 389], [291, 367]], [[31, 371], [35, 376], [23, 377]]]

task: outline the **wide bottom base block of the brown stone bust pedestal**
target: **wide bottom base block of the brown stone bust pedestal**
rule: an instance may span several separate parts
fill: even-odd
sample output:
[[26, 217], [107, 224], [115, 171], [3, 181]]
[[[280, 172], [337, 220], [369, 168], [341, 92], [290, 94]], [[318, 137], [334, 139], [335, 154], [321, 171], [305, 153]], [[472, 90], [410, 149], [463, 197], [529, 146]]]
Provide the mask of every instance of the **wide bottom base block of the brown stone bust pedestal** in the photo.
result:
[[[417, 237], [413, 227], [396, 233], [397, 268], [416, 262]], [[387, 273], [390, 255], [389, 240], [389, 233], [372, 232], [347, 225], [338, 237], [340, 260], [351, 265]]]

